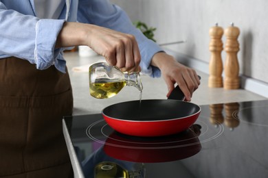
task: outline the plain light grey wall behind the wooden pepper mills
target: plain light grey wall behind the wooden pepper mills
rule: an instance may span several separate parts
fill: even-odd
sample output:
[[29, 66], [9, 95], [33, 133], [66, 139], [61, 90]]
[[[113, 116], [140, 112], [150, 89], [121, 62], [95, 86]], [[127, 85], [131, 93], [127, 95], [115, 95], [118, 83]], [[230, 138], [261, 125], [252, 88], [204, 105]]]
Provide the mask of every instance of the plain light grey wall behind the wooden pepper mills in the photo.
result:
[[[238, 61], [243, 75], [268, 83], [268, 1], [266, 0], [112, 0], [132, 21], [157, 27], [157, 42], [187, 40], [168, 48], [204, 62], [210, 61], [210, 27], [239, 27]], [[225, 44], [225, 36], [223, 36]], [[222, 52], [225, 62], [225, 51]]]

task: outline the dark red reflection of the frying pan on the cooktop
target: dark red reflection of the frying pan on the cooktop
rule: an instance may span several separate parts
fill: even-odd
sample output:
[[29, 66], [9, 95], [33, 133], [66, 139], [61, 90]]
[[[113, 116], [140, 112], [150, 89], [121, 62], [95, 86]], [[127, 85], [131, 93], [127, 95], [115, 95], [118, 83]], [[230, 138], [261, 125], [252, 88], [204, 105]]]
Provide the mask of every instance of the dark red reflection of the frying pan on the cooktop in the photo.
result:
[[200, 125], [171, 136], [154, 138], [127, 136], [114, 131], [104, 144], [107, 155], [129, 162], [172, 162], [199, 153]]

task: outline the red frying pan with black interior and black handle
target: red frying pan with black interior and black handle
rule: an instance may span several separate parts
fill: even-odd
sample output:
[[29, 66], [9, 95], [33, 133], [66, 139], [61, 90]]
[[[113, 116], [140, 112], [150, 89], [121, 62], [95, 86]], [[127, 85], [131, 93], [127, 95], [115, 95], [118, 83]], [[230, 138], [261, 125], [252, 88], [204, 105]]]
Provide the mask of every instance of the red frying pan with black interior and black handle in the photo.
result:
[[126, 101], [109, 105], [102, 116], [110, 127], [130, 136], [167, 136], [188, 129], [199, 117], [201, 107], [179, 101], [179, 86], [168, 99]]

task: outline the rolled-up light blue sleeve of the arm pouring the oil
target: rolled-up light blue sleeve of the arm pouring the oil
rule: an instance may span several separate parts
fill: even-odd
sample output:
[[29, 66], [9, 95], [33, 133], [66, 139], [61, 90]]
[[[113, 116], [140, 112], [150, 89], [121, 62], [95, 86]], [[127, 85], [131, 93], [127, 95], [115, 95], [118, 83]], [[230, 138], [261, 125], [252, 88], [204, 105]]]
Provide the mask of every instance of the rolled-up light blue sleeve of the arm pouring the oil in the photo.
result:
[[36, 68], [41, 70], [54, 64], [64, 73], [66, 62], [59, 55], [63, 49], [54, 49], [63, 23], [64, 20], [22, 14], [0, 2], [0, 58], [16, 56], [36, 64]]

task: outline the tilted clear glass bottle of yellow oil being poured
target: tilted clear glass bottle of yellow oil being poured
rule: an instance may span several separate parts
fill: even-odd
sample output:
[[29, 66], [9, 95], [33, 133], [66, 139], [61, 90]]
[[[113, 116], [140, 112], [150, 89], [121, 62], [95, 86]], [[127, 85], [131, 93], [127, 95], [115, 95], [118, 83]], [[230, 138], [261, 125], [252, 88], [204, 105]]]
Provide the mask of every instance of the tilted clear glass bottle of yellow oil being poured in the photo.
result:
[[124, 86], [135, 86], [142, 92], [142, 82], [139, 73], [122, 73], [119, 68], [109, 66], [105, 62], [89, 67], [89, 92], [97, 99], [107, 99], [115, 96]]

